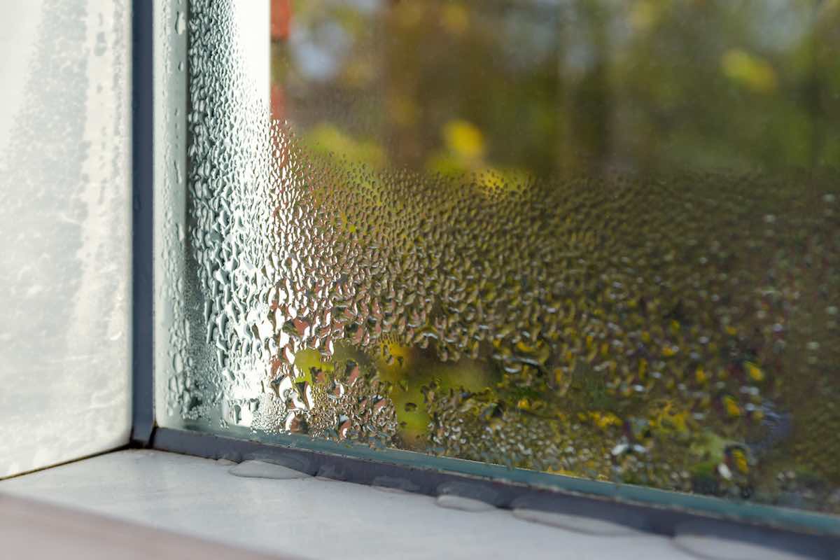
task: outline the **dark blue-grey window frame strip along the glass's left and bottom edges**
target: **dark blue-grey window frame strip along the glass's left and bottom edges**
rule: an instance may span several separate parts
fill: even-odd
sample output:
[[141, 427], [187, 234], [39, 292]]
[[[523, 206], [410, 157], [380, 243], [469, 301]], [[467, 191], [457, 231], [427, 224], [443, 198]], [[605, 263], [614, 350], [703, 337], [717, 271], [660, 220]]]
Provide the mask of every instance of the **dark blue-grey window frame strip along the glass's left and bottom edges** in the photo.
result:
[[[188, 18], [189, 0], [182, 2], [181, 9]], [[782, 543], [780, 547], [791, 551], [807, 546], [824, 550], [828, 555], [840, 548], [840, 518], [825, 514], [423, 453], [391, 449], [365, 451], [307, 437], [256, 442], [157, 426], [155, 338], [160, 333], [155, 332], [155, 305], [161, 279], [155, 275], [155, 258], [162, 254], [160, 208], [167, 202], [160, 196], [163, 182], [167, 181], [161, 170], [170, 163], [166, 158], [176, 163], [181, 161], [185, 165], [182, 169], [186, 169], [186, 134], [179, 135], [177, 123], [164, 115], [180, 114], [181, 131], [186, 130], [183, 125], [189, 98], [186, 72], [180, 78], [185, 82], [181, 84], [182, 92], [165, 96], [160, 90], [161, 84], [167, 83], [160, 80], [160, 73], [171, 68], [177, 57], [186, 59], [189, 40], [188, 31], [176, 31], [176, 10], [165, 4], [163, 0], [133, 2], [133, 447], [234, 461], [259, 458], [297, 466], [309, 474], [333, 476], [357, 484], [396, 486], [425, 495], [445, 491], [470, 497], [478, 493], [492, 496], [493, 505], [506, 509], [528, 507], [619, 522], [640, 519], [646, 531], [660, 535], [673, 536], [678, 526], [689, 521], [703, 521], [712, 526], [735, 523], [745, 530], [757, 531], [760, 536], [772, 537], [774, 542]], [[160, 38], [164, 34], [170, 39], [166, 48], [161, 46]], [[179, 107], [180, 113], [172, 113], [173, 108]]]

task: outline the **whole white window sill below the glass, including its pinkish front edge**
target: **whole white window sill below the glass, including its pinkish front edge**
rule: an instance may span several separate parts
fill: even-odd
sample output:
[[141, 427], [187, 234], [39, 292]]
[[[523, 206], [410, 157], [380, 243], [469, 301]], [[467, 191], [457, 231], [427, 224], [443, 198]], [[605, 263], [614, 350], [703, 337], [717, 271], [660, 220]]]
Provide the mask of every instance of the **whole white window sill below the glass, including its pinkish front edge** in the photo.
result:
[[[263, 554], [343, 559], [799, 558], [711, 537], [677, 542], [647, 533], [614, 536], [598, 522], [588, 526], [589, 532], [571, 531], [517, 519], [510, 510], [454, 510], [429, 496], [399, 490], [308, 476], [243, 478], [230, 474], [231, 468], [226, 461], [129, 450], [3, 480], [0, 520], [6, 530], [0, 526], [0, 541], [11, 542], [14, 552], [16, 538], [19, 554], [26, 557], [67, 558], [81, 551], [79, 557], [88, 559], [109, 557], [115, 546], [148, 552], [150, 543], [155, 557], [184, 557], [189, 549], [189, 557], [215, 550], [211, 556], [223, 558], [239, 548], [234, 554], [239, 560]], [[72, 510], [99, 517], [80, 521], [87, 516]], [[570, 525], [587, 531], [585, 520], [565, 524]], [[6, 541], [7, 536], [14, 538]]]

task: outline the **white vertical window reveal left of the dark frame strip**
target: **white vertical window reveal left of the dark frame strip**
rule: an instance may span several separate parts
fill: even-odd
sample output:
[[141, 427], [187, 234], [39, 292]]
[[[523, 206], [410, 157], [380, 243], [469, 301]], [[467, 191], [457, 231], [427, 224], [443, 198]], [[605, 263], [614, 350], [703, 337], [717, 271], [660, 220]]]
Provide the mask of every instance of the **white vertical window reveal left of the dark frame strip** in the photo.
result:
[[0, 477], [128, 441], [126, 0], [0, 0]]

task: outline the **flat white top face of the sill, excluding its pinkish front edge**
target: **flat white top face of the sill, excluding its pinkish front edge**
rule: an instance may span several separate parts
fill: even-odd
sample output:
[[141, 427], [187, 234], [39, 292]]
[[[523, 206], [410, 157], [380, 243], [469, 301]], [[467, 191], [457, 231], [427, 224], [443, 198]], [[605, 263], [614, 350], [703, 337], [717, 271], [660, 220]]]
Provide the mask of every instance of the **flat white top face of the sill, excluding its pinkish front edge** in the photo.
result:
[[604, 538], [521, 521], [508, 510], [452, 510], [423, 495], [315, 477], [242, 478], [230, 468], [122, 451], [5, 480], [0, 493], [297, 557], [692, 558], [661, 536]]

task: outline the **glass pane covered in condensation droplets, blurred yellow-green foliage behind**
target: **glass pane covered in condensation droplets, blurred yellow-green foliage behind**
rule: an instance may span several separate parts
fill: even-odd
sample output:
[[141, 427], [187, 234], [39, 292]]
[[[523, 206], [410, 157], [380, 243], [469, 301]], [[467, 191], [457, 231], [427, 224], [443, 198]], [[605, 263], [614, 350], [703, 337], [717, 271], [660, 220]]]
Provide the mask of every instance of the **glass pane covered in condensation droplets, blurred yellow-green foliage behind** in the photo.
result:
[[164, 424], [840, 511], [840, 4], [193, 4]]

